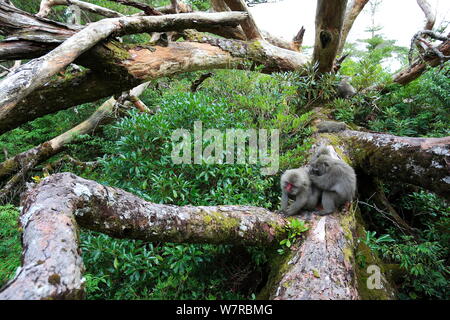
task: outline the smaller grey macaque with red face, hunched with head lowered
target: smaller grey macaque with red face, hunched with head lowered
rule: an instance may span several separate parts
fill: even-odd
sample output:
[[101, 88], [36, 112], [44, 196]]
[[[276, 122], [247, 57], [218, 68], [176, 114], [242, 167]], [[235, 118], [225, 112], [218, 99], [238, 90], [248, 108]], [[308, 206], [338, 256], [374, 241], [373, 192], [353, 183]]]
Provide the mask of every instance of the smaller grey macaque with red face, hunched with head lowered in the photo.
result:
[[[286, 170], [281, 176], [281, 210], [288, 216], [301, 209], [314, 210], [319, 197], [320, 191], [311, 184], [306, 167]], [[289, 198], [295, 201], [288, 207]]]

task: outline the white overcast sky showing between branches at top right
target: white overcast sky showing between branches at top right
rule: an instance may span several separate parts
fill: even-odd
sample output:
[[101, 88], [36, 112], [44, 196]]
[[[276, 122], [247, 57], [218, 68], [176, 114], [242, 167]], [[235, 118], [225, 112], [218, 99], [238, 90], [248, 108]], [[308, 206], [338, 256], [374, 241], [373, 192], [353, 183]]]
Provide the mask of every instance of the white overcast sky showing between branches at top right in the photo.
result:
[[[350, 2], [351, 0], [349, 0]], [[260, 29], [275, 36], [291, 40], [303, 25], [306, 28], [303, 44], [314, 44], [314, 18], [316, 0], [283, 0], [275, 3], [255, 5], [250, 8]], [[450, 0], [429, 0], [437, 10], [436, 26], [450, 21]], [[347, 41], [368, 38], [364, 30], [371, 25], [369, 5], [356, 19]], [[416, 0], [383, 0], [375, 15], [375, 24], [386, 38], [397, 40], [396, 44], [409, 47], [412, 36], [425, 25], [425, 16]], [[447, 32], [450, 28], [447, 28]]]

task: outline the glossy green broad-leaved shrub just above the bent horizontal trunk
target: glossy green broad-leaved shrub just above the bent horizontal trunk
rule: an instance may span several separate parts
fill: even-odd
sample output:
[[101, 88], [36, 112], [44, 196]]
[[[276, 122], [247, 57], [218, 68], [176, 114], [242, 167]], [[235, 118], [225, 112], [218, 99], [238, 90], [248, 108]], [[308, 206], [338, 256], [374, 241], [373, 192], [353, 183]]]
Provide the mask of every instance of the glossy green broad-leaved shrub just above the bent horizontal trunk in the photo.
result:
[[119, 156], [105, 161], [105, 178], [157, 203], [270, 206], [265, 192], [273, 179], [263, 176], [258, 165], [172, 162], [171, 135], [176, 129], [193, 132], [195, 121], [202, 121], [203, 130], [245, 129], [248, 114], [229, 108], [225, 100], [182, 93], [165, 97], [156, 115], [132, 113], [116, 127], [122, 136], [116, 147]]

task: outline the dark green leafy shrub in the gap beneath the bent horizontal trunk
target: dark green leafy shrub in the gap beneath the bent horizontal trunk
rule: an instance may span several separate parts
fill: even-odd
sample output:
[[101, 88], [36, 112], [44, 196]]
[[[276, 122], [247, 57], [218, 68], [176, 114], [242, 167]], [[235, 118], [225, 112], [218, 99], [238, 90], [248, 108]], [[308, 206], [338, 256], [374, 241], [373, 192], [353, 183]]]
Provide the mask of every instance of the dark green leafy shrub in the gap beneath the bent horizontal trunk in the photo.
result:
[[89, 299], [245, 299], [256, 289], [244, 296], [243, 284], [232, 280], [255, 272], [249, 266], [257, 269], [250, 250], [240, 252], [237, 263], [230, 257], [241, 249], [231, 246], [159, 245], [92, 232], [83, 232], [81, 241]]

